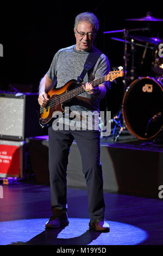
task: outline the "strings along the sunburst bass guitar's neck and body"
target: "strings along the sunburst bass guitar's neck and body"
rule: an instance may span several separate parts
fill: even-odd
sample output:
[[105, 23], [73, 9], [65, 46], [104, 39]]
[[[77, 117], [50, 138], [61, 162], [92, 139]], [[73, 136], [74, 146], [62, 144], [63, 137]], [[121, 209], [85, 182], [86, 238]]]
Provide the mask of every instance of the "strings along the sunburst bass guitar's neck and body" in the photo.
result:
[[[120, 71], [118, 71], [118, 72], [120, 72]], [[115, 75], [115, 74], [117, 74], [116, 71], [112, 75]], [[103, 76], [103, 77], [101, 77], [101, 78], [99, 78], [95, 81], [90, 82], [92, 84], [92, 87], [95, 87], [98, 84], [100, 84], [101, 82], [106, 81], [106, 77], [108, 75], [105, 75], [105, 76]], [[79, 95], [80, 93], [83, 93], [83, 92], [84, 92], [84, 88], [83, 88], [83, 86], [80, 86], [79, 88], [74, 88], [70, 92], [67, 92], [66, 95], [65, 94], [64, 95], [59, 95], [59, 96], [55, 97], [54, 99], [50, 100], [50, 102], [48, 102], [46, 107], [40, 107], [40, 113], [44, 112], [44, 108], [48, 108], [49, 106], [50, 107], [57, 106], [58, 104], [63, 103], [64, 101], [67, 101], [67, 100], [71, 99], [72, 96]], [[74, 94], [74, 93], [76, 93], [76, 94]], [[53, 101], [54, 101], [54, 103], [53, 103]], [[57, 103], [55, 103], [55, 102], [57, 102]]]

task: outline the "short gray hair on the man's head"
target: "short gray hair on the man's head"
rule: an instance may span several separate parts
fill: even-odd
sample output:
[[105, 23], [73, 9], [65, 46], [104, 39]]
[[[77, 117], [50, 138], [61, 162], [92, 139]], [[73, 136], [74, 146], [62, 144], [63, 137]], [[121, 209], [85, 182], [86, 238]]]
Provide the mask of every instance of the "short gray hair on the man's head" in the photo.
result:
[[93, 29], [97, 32], [99, 28], [99, 22], [95, 14], [93, 13], [80, 13], [76, 16], [75, 22], [74, 22], [74, 28], [77, 29], [78, 23], [82, 21], [90, 22], [93, 26]]

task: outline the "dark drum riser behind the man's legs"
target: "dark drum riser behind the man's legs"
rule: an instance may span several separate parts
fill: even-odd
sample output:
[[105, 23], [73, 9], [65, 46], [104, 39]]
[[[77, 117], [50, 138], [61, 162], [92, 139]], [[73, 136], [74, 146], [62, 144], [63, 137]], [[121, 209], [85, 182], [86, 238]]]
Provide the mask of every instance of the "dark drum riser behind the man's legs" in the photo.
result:
[[[39, 184], [49, 185], [48, 140], [27, 139], [32, 169]], [[101, 145], [104, 190], [158, 198], [163, 185], [163, 153]], [[82, 161], [72, 144], [67, 186], [86, 188]]]

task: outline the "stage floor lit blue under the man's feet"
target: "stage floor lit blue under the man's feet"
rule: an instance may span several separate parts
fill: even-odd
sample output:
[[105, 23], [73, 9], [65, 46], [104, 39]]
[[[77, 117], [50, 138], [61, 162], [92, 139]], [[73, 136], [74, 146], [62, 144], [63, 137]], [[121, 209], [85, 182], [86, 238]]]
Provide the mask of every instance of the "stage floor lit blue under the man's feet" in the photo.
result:
[[[68, 188], [65, 228], [45, 230], [51, 217], [50, 189], [22, 181], [1, 185], [0, 245], [163, 245], [163, 199], [104, 193], [109, 233], [89, 230], [86, 190]], [[54, 250], [55, 251], [55, 250]]]

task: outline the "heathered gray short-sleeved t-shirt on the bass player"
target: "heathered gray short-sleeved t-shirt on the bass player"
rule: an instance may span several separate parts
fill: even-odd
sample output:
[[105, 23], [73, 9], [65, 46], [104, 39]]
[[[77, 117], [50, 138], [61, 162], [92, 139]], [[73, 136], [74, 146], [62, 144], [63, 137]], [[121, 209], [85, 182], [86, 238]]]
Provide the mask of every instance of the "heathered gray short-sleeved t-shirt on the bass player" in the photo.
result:
[[[64, 86], [68, 81], [77, 80], [78, 76], [82, 73], [84, 63], [89, 54], [87, 51], [76, 50], [76, 45], [62, 48], [59, 50], [52, 61], [52, 64], [47, 72], [48, 78], [54, 81], [55, 88]], [[83, 83], [97, 80], [110, 71], [109, 60], [105, 54], [101, 54], [93, 68], [85, 75]], [[106, 87], [110, 89], [110, 82], [103, 82]], [[98, 96], [90, 95], [86, 92], [75, 97], [71, 102], [71, 110], [78, 111], [91, 111], [99, 112]]]

